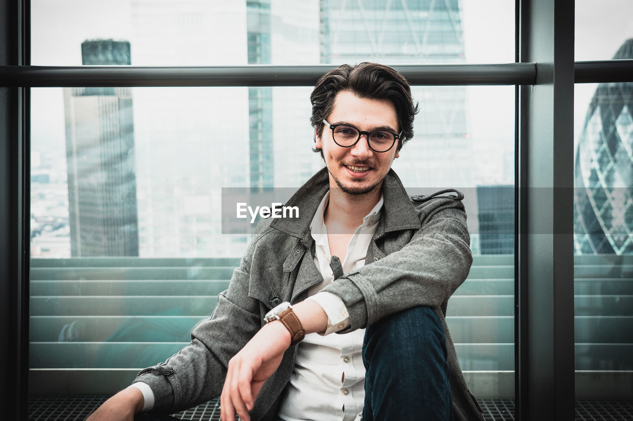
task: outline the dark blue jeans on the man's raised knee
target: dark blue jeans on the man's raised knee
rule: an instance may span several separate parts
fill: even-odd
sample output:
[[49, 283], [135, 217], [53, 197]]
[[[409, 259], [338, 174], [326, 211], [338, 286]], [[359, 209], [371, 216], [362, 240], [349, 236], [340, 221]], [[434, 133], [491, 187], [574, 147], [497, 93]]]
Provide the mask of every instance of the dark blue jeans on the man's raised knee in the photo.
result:
[[368, 326], [363, 362], [363, 421], [453, 418], [444, 327], [429, 307]]

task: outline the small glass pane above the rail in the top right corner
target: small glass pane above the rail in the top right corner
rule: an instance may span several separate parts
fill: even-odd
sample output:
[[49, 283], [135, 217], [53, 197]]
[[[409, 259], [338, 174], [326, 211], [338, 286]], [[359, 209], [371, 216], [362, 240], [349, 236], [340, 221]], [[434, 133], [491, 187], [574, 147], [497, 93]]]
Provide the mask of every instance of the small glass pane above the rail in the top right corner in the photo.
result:
[[630, 58], [617, 54], [633, 38], [633, 3], [630, 0], [576, 0], [575, 61]]

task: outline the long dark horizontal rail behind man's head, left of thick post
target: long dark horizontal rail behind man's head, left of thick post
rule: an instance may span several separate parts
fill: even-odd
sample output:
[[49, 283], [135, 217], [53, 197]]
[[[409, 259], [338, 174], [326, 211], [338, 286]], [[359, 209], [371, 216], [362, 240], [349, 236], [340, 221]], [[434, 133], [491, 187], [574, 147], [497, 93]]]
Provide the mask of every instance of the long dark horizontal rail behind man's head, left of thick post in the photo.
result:
[[[0, 66], [7, 87], [314, 86], [334, 64], [313, 66]], [[534, 63], [393, 66], [411, 85], [531, 85]]]

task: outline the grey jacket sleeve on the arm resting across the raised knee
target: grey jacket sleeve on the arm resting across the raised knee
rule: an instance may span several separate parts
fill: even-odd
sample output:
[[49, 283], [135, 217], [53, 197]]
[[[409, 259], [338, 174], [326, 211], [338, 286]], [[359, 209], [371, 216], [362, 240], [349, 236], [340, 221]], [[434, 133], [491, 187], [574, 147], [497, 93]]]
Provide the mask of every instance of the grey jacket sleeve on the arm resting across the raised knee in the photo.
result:
[[449, 198], [432, 200], [418, 214], [422, 228], [404, 247], [323, 288], [348, 307], [350, 326], [339, 333], [419, 305], [446, 311], [472, 264], [466, 214], [461, 201]]

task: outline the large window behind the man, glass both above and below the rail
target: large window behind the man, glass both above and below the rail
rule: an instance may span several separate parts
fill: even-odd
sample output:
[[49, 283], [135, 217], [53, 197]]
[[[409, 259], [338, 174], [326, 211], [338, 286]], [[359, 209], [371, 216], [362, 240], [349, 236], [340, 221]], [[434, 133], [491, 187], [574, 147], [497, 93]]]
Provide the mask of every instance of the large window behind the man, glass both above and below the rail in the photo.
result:
[[[479, 11], [458, 2], [415, 10], [396, 3], [320, 8], [316, 1], [228, 7], [192, 1], [175, 13], [166, 3], [84, 2], [71, 16], [34, 1], [33, 61], [465, 63], [468, 48], [475, 60], [484, 51], [468, 44], [468, 31], [477, 40], [491, 36], [467, 25], [469, 14]], [[511, 17], [511, 8], [490, 4]], [[97, 14], [104, 26], [87, 25]], [[298, 26], [297, 16], [308, 18]], [[97, 35], [110, 34], [115, 21], [116, 34]], [[511, 61], [513, 28], [502, 28], [509, 42], [496, 60]], [[44, 47], [51, 34], [64, 49]], [[217, 42], [220, 36], [231, 42]], [[210, 314], [214, 296], [226, 288], [227, 270], [249, 238], [222, 234], [221, 189], [298, 188], [323, 165], [311, 152], [310, 92], [32, 91], [31, 368], [46, 379], [42, 385], [56, 384], [57, 369], [86, 370], [91, 374], [84, 381], [94, 382], [92, 370], [109, 368], [120, 377], [100, 383], [103, 393], [114, 391], [136, 369], [187, 343], [191, 327]], [[410, 194], [454, 187], [467, 195], [475, 267], [451, 300], [448, 323], [475, 393], [511, 397], [515, 92], [415, 86], [413, 95], [421, 110], [417, 135], [394, 169]], [[486, 386], [491, 382], [494, 387]]]

